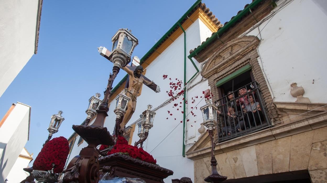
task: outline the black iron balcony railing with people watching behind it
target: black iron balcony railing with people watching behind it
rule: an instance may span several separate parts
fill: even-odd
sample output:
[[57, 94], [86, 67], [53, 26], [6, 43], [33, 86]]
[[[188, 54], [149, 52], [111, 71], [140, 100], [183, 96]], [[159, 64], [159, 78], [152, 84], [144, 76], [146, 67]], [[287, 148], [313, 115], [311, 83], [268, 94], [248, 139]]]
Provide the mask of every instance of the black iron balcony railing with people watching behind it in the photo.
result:
[[[232, 97], [229, 98], [229, 95]], [[218, 114], [220, 113], [217, 119], [219, 142], [258, 131], [270, 125], [259, 84], [255, 81], [220, 98], [216, 101], [216, 106]]]

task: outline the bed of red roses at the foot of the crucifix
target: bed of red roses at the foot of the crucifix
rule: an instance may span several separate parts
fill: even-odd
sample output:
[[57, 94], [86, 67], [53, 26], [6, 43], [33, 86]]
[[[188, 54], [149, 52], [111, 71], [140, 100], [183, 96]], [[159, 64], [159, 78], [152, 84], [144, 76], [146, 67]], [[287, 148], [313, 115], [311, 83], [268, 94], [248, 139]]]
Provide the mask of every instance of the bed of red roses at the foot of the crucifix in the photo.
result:
[[108, 151], [108, 155], [114, 153], [122, 153], [131, 156], [132, 158], [140, 159], [142, 161], [156, 164], [157, 160], [152, 155], [144, 151], [142, 148], [129, 145], [124, 137], [118, 136], [116, 144], [111, 151]]

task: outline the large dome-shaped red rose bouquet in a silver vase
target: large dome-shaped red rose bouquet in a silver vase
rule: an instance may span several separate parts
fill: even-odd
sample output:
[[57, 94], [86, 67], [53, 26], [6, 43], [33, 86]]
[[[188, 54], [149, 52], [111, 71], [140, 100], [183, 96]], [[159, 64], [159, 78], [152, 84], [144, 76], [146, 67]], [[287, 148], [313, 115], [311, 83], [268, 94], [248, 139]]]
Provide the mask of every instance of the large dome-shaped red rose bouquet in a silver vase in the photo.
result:
[[48, 171], [55, 164], [54, 173], [63, 171], [69, 153], [68, 141], [65, 137], [53, 138], [42, 148], [33, 163], [33, 170]]

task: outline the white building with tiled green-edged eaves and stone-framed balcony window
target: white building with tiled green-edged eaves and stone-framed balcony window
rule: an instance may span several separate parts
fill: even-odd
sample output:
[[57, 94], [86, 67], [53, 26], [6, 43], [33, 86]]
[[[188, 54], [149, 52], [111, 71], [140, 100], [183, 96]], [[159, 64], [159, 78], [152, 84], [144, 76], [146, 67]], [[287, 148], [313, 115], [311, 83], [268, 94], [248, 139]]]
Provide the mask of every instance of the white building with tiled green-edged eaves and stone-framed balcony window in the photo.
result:
[[[225, 137], [218, 137], [221, 127], [217, 126], [218, 172], [228, 176], [226, 182], [295, 180], [292, 175], [296, 173], [299, 179], [327, 181], [323, 176], [327, 174], [327, 101], [323, 97], [327, 26], [322, 23], [327, 19], [327, 7], [317, 0], [273, 2], [276, 4], [254, 0], [224, 27], [215, 24], [205, 5], [197, 2], [178, 22], [185, 33], [174, 25], [175, 30], [164, 36], [168, 38], [153, 47], [156, 51], [151, 49], [141, 59], [145, 76], [158, 84], [161, 92], [142, 88], [127, 124], [127, 136], [132, 145], [139, 139], [139, 115], [151, 104], [156, 116], [143, 147], [157, 164], [174, 171], [165, 182], [186, 176], [203, 183], [211, 174], [211, 142], [201, 126], [199, 110], [205, 104], [203, 93], [210, 89], [210, 98], [223, 110], [228, 91], [237, 97], [238, 89], [251, 87], [251, 83], [260, 85], [252, 88], [257, 89], [255, 95], [265, 111], [265, 119], [260, 121], [265, 125]], [[317, 26], [317, 21], [322, 24]], [[194, 47], [197, 49], [191, 50]], [[176, 91], [170, 88], [179, 81], [182, 84]], [[125, 83], [120, 82], [110, 98], [105, 121], [110, 132], [115, 123], [114, 97]], [[186, 90], [186, 96], [176, 96], [180, 88]], [[170, 90], [175, 92], [174, 101], [168, 96]], [[77, 134], [69, 140], [68, 162], [87, 146]]]

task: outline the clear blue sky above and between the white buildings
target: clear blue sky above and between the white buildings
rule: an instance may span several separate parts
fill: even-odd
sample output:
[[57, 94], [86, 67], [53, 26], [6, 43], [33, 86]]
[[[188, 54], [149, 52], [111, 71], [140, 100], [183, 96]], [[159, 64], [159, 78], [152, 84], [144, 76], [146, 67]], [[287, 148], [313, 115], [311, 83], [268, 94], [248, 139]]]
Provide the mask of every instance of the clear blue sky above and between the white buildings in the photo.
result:
[[[38, 53], [1, 96], [0, 117], [17, 101], [32, 107], [29, 141], [25, 147], [36, 158], [48, 137], [47, 128], [53, 114], [62, 110], [65, 118], [54, 137], [68, 138], [73, 133], [72, 125], [86, 118], [89, 98], [97, 92], [103, 98], [112, 63], [99, 55], [97, 47], [110, 48], [115, 32], [129, 28], [139, 40], [132, 56], [142, 58], [194, 2], [43, 1]], [[251, 0], [202, 2], [225, 23]], [[125, 75], [121, 70], [113, 86]]]

